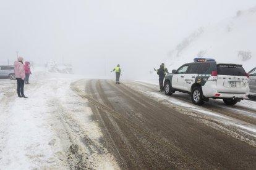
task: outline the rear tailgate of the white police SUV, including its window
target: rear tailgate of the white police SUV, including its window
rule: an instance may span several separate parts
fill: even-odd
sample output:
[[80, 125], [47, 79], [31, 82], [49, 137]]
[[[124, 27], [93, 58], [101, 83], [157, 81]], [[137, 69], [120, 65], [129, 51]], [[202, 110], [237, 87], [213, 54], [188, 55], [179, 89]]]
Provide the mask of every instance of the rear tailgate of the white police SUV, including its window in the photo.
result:
[[248, 78], [242, 65], [218, 64], [217, 65], [217, 91], [224, 93], [244, 94], [248, 88]]

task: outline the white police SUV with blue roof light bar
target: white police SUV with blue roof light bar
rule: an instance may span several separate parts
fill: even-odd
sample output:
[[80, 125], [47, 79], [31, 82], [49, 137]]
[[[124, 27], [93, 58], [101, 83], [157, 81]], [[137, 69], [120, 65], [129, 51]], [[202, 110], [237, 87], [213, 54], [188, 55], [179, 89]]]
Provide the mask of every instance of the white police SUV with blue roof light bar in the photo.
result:
[[195, 58], [194, 62], [186, 63], [165, 76], [164, 93], [186, 92], [195, 105], [202, 105], [210, 98], [235, 105], [249, 94], [248, 81], [249, 74], [242, 65]]

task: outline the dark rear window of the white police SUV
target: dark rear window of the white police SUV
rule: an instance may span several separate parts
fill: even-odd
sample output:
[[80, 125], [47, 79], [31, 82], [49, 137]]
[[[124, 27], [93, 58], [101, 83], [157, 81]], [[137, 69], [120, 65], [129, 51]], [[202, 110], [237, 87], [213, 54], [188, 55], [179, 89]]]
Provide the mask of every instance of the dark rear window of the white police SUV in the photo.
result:
[[228, 76], [245, 76], [244, 68], [242, 65], [236, 64], [218, 64], [217, 65], [218, 75]]

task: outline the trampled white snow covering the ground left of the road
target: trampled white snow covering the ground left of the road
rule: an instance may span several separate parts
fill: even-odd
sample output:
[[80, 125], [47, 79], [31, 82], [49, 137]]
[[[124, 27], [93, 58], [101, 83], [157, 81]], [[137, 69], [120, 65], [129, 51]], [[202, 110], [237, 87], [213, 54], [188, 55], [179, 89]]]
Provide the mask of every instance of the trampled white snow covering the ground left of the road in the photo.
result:
[[[73, 139], [61, 122], [63, 110], [82, 121], [84, 133], [100, 145], [102, 134], [90, 120], [90, 107], [70, 89], [81, 78], [35, 69], [24, 88], [28, 99], [17, 97], [16, 81], [0, 79], [0, 169], [70, 169], [65, 152]], [[104, 155], [94, 156], [95, 169], [116, 166]]]

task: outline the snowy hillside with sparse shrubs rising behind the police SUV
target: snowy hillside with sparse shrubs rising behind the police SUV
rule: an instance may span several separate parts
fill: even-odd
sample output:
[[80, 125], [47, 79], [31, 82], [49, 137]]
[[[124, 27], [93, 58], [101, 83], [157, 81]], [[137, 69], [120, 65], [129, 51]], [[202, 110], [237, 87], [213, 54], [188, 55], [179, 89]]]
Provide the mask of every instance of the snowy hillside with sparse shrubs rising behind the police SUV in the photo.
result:
[[171, 71], [193, 62], [195, 57], [207, 57], [217, 62], [242, 63], [245, 71], [250, 71], [256, 67], [255, 30], [256, 7], [237, 11], [233, 18], [190, 34], [169, 52], [167, 67]]

